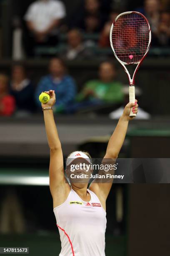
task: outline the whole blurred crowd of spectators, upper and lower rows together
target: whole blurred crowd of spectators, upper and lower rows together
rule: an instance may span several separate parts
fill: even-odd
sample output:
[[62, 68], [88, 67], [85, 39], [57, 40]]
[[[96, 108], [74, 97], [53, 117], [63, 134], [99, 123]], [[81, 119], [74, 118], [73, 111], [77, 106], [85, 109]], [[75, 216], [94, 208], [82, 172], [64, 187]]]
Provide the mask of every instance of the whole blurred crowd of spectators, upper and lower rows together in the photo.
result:
[[[127, 102], [128, 92], [117, 81], [114, 64], [105, 61], [107, 51], [104, 51], [103, 58], [95, 51], [97, 47], [110, 49], [110, 26], [115, 17], [125, 11], [115, 8], [115, 1], [111, 2], [111, 8], [103, 8], [103, 1], [84, 0], [84, 5], [75, 10], [69, 22], [62, 1], [36, 0], [28, 7], [23, 17], [27, 28], [23, 29], [26, 57], [34, 56], [37, 47], [53, 46], [59, 51], [50, 57], [47, 75], [40, 77], [37, 84], [30, 80], [27, 70], [19, 62], [13, 65], [10, 77], [0, 74], [0, 115], [36, 113], [41, 110], [40, 93], [52, 89], [57, 95], [55, 113], [74, 114], [112, 105], [111, 110], [117, 112], [112, 112], [110, 117], [118, 118], [122, 105]], [[135, 8], [150, 22], [152, 46], [170, 46], [168, 5], [167, 0], [144, 0], [143, 6]], [[65, 61], [90, 60], [96, 55], [100, 61], [98, 76], [82, 84], [80, 91], [74, 78], [68, 74]]]

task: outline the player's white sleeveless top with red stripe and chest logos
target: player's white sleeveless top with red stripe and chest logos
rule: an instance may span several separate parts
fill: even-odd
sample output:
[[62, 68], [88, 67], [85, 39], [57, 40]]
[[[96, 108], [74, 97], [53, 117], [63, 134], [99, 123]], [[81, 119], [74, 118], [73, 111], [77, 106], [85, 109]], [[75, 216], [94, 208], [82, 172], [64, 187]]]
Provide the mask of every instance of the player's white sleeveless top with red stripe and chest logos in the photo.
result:
[[54, 208], [61, 240], [59, 256], [105, 256], [106, 212], [95, 193], [87, 191], [89, 202], [71, 189], [65, 202]]

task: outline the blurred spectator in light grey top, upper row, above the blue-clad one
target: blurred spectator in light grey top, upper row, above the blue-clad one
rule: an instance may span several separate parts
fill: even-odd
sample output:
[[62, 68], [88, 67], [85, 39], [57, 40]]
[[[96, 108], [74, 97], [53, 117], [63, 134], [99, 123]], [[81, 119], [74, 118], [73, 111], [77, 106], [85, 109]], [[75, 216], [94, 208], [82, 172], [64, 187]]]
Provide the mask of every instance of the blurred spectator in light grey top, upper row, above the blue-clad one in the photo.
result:
[[82, 42], [82, 34], [78, 29], [72, 29], [67, 34], [67, 46], [60, 52], [62, 59], [82, 60], [92, 56], [92, 51]]

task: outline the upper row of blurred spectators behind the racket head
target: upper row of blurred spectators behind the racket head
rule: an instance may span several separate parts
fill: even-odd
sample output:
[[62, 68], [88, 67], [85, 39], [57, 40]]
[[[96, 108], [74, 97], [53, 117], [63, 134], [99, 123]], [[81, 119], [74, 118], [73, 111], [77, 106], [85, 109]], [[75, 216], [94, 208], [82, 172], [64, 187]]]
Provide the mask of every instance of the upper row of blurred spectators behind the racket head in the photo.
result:
[[[115, 17], [125, 10], [102, 8], [100, 0], [85, 0], [84, 6], [68, 20], [65, 5], [59, 0], [37, 0], [25, 13], [24, 49], [27, 56], [35, 54], [37, 46], [57, 46], [66, 60], [93, 57], [92, 46], [110, 47], [110, 27]], [[149, 20], [152, 30], [152, 46], [170, 46], [169, 1], [144, 0], [135, 8]], [[66, 40], [61, 43], [60, 36]]]

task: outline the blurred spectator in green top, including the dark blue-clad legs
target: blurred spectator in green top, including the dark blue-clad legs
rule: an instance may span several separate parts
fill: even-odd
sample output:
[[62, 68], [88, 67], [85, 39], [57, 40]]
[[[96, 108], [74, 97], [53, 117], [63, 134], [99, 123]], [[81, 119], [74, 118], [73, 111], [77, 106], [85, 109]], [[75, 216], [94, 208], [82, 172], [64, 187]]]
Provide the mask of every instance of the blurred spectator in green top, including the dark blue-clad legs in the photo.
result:
[[[115, 80], [115, 65], [110, 61], [100, 64], [99, 78], [88, 81], [77, 95], [76, 102], [69, 106], [68, 113], [80, 111], [114, 110], [123, 102], [122, 84]], [[97, 106], [97, 108], [96, 108]], [[98, 108], [99, 107], [99, 108]]]

